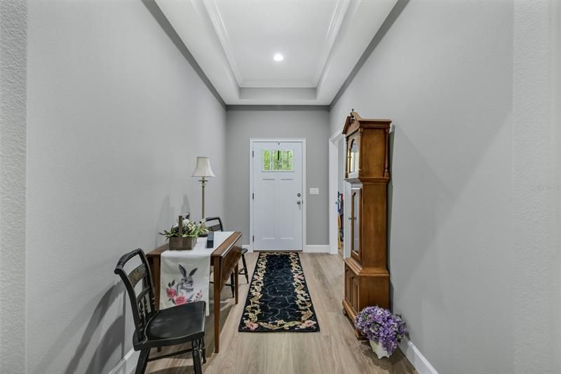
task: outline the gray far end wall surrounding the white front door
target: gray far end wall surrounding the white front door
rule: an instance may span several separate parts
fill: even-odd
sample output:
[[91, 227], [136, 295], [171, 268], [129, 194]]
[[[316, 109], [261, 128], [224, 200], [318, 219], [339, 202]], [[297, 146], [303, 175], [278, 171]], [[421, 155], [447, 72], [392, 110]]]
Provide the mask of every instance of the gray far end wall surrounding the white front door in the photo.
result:
[[227, 112], [227, 229], [243, 232], [249, 243], [249, 140], [250, 138], [306, 138], [306, 185], [319, 187], [320, 194], [306, 191], [306, 240], [326, 245], [327, 237], [327, 142], [329, 114], [326, 109], [250, 108]]

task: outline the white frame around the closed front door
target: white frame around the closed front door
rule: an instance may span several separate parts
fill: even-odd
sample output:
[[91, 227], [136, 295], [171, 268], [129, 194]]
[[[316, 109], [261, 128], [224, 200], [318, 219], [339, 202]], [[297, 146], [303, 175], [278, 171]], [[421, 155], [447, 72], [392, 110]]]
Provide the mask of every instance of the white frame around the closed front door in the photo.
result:
[[255, 250], [255, 236], [253, 232], [253, 143], [257, 142], [300, 142], [302, 143], [302, 252], [306, 252], [306, 139], [305, 138], [250, 138], [250, 248], [253, 252]]

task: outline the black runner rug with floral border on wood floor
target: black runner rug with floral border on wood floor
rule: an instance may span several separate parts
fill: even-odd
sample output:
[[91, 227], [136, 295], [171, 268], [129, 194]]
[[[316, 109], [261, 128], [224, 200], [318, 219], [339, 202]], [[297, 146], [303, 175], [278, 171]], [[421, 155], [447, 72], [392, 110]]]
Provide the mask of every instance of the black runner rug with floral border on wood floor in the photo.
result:
[[238, 330], [246, 333], [320, 330], [298, 253], [259, 253]]

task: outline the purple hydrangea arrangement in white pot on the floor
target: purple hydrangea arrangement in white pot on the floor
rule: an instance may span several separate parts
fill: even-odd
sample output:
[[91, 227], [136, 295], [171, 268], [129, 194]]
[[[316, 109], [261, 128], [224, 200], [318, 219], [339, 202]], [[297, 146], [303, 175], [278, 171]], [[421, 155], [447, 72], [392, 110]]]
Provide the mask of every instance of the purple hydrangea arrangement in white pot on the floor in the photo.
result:
[[380, 343], [388, 354], [396, 350], [398, 343], [407, 334], [407, 326], [401, 316], [378, 306], [361, 310], [356, 315], [355, 327], [368, 340]]

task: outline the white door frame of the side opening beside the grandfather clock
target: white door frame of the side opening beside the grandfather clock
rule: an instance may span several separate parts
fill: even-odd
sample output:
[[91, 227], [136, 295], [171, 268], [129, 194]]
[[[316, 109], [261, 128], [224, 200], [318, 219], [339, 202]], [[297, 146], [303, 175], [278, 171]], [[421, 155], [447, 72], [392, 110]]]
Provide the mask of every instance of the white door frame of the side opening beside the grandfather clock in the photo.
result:
[[[339, 230], [337, 229], [337, 201], [334, 196], [337, 196], [338, 191], [338, 181], [339, 178], [343, 178], [342, 171], [339, 171], [339, 158], [344, 157], [344, 154], [339, 154], [338, 142], [343, 139], [343, 128], [335, 131], [333, 135], [329, 138], [329, 208], [327, 211], [329, 213], [329, 247], [330, 253], [333, 255], [337, 254], [337, 235], [339, 235]], [[346, 182], [343, 182], [344, 194], [344, 207], [346, 208]], [[346, 215], [343, 215], [346, 217]], [[343, 220], [342, 224], [345, 224]], [[346, 239], [346, 227], [344, 229], [344, 239]], [[345, 242], [346, 240], [344, 240]], [[346, 245], [343, 242], [343, 257], [348, 257], [345, 253]]]

